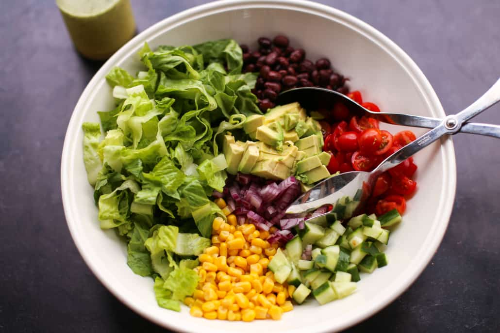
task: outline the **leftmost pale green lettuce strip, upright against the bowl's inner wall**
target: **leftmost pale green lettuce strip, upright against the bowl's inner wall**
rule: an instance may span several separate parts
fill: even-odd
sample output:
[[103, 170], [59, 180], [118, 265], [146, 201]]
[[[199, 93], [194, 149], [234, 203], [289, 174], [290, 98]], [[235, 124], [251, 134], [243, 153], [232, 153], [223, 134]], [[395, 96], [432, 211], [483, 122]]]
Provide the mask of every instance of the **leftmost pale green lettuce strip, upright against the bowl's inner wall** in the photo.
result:
[[84, 122], [81, 128], [83, 129], [83, 163], [85, 163], [88, 182], [94, 186], [97, 174], [102, 168], [98, 154], [100, 126], [98, 123]]

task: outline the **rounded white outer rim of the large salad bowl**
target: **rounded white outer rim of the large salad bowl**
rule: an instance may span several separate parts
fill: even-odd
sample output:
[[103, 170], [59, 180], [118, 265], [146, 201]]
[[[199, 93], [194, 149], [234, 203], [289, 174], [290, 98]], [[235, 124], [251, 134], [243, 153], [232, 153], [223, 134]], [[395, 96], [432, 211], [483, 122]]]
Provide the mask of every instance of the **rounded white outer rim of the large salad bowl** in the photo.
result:
[[[94, 276], [106, 287], [108, 291], [110, 291], [120, 302], [125, 304], [129, 309], [138, 313], [143, 318], [161, 326], [164, 328], [168, 328], [171, 330], [182, 331], [182, 332], [199, 332], [199, 325], [189, 325], [187, 323], [165, 323], [160, 321], [154, 315], [151, 315], [144, 309], [138, 307], [136, 304], [130, 302], [125, 296], [121, 295], [119, 290], [110, 283], [110, 281], [106, 280], [104, 276], [99, 272], [98, 266], [93, 262], [93, 259], [87, 255], [85, 252], [86, 245], [82, 240], [78, 230], [77, 230], [77, 217], [74, 216], [72, 212], [72, 202], [71, 199], [71, 174], [72, 168], [70, 167], [72, 164], [71, 160], [71, 148], [74, 147], [76, 142], [74, 142], [74, 136], [72, 133], [75, 133], [80, 129], [82, 123], [83, 113], [80, 112], [87, 99], [91, 96], [94, 87], [98, 84], [98, 82], [106, 75], [109, 69], [117, 63], [120, 59], [126, 58], [130, 55], [130, 53], [135, 52], [137, 45], [140, 45], [142, 41], [147, 40], [156, 36], [158, 33], [161, 33], [165, 29], [169, 29], [174, 27], [175, 25], [181, 24], [185, 21], [204, 17], [207, 15], [211, 15], [214, 13], [241, 9], [241, 8], [279, 8], [279, 9], [292, 9], [307, 12], [314, 15], [321, 15], [328, 18], [335, 18], [337, 21], [341, 21], [342, 24], [349, 26], [350, 28], [355, 29], [357, 32], [363, 34], [365, 37], [369, 38], [377, 45], [382, 47], [387, 53], [394, 57], [394, 59], [408, 72], [409, 76], [414, 81], [415, 85], [420, 89], [424, 99], [429, 106], [431, 106], [432, 110], [436, 113], [436, 116], [444, 117], [444, 110], [439, 102], [439, 99], [434, 92], [432, 86], [428, 82], [425, 75], [416, 65], [416, 63], [392, 40], [390, 40], [387, 36], [376, 30], [371, 25], [361, 21], [360, 19], [344, 12], [339, 9], [316, 3], [306, 0], [218, 0], [214, 2], [209, 2], [205, 4], [201, 4], [184, 11], [178, 12], [174, 15], [166, 17], [161, 21], [154, 23], [144, 31], [137, 34], [131, 40], [129, 40], [125, 45], [123, 45], [116, 53], [114, 53], [95, 73], [92, 79], [89, 81], [82, 94], [80, 95], [74, 110], [72, 112], [66, 134], [64, 137], [64, 145], [62, 149], [61, 156], [61, 196], [62, 196], [62, 204], [64, 209], [64, 215], [66, 218], [67, 226], [71, 237], [73, 239], [78, 252], [83, 258], [86, 265], [92, 271]], [[81, 113], [81, 114], [80, 114]], [[345, 321], [341, 323], [331, 323], [331, 325], [325, 324], [317, 324], [313, 327], [309, 327], [309, 332], [331, 332], [331, 330], [339, 331], [346, 329], [350, 326], [353, 326], [368, 317], [374, 315], [378, 311], [382, 310], [388, 304], [392, 303], [397, 297], [399, 297], [406, 289], [408, 289], [411, 284], [418, 278], [418, 276], [422, 273], [425, 267], [428, 265], [438, 246], [440, 245], [444, 233], [446, 231], [447, 225], [449, 223], [449, 218], [451, 215], [454, 197], [455, 197], [455, 189], [456, 189], [456, 163], [455, 163], [455, 155], [454, 148], [451, 137], [446, 139], [441, 139], [441, 149], [439, 153], [443, 157], [443, 169], [448, 172], [446, 183], [442, 180], [443, 185], [446, 186], [443, 188], [443, 195], [440, 198], [440, 211], [439, 215], [435, 217], [440, 221], [439, 224], [434, 226], [432, 232], [432, 239], [427, 240], [426, 247], [424, 247], [419, 253], [420, 260], [417, 262], [417, 265], [412, 266], [405, 270], [405, 278], [401, 278], [402, 282], [397, 283], [394, 286], [394, 289], [391, 291], [387, 297], [378, 300], [376, 302], [372, 302], [371, 304], [365, 307], [365, 310], [347, 318]], [[186, 327], [187, 324], [187, 327]], [[221, 332], [219, 330], [215, 331], [212, 329], [204, 328], [205, 332]], [[293, 330], [293, 332], [301, 332], [300, 328]]]

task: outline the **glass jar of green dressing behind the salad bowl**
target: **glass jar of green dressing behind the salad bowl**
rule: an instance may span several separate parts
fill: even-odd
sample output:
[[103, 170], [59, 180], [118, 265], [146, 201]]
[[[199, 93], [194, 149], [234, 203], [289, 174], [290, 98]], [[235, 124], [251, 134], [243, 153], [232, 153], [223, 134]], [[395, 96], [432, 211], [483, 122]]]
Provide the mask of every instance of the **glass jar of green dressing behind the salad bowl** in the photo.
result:
[[129, 0], [56, 0], [74, 46], [93, 60], [107, 59], [135, 33]]

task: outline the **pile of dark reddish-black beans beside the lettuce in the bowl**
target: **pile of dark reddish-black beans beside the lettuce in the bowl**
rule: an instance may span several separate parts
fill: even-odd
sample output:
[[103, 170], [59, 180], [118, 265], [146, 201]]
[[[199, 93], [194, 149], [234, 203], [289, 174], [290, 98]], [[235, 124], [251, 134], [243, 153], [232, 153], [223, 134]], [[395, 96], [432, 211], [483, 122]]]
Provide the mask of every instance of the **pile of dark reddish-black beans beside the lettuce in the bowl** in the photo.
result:
[[243, 72], [259, 72], [252, 92], [262, 111], [274, 107], [279, 92], [296, 87], [323, 87], [346, 94], [346, 79], [331, 68], [327, 58], [316, 62], [305, 57], [305, 50], [289, 45], [288, 37], [277, 35], [272, 40], [258, 38], [258, 50], [240, 45], [243, 51]]

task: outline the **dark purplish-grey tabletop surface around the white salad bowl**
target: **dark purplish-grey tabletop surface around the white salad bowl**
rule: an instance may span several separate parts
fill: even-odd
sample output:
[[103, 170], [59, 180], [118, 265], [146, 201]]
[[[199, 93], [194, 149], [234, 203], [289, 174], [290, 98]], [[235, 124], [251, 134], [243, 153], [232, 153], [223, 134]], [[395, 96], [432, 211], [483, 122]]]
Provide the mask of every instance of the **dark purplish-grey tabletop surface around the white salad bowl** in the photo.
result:
[[[141, 31], [203, 2], [132, 5]], [[500, 76], [498, 0], [321, 2], [359, 17], [401, 46], [448, 113]], [[53, 0], [2, 0], [0, 7], [0, 332], [164, 332], [93, 277], [62, 212], [65, 129], [100, 64], [75, 53]], [[495, 106], [474, 121], [500, 124], [499, 112]], [[499, 143], [454, 137], [456, 201], [439, 250], [408, 291], [349, 332], [499, 331]]]

